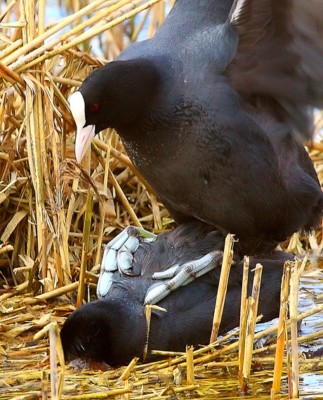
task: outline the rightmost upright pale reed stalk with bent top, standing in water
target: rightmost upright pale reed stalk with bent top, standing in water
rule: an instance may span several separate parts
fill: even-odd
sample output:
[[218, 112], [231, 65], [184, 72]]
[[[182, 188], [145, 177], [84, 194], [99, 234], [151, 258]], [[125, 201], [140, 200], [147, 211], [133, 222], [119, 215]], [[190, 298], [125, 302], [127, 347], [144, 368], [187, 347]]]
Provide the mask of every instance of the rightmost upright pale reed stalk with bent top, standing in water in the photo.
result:
[[293, 399], [299, 396], [299, 378], [298, 378], [298, 285], [301, 273], [305, 269], [308, 261], [308, 254], [303, 259], [303, 262], [294, 262], [294, 267], [291, 269], [291, 292], [289, 297], [289, 315], [291, 318], [291, 363], [292, 363], [292, 395]]

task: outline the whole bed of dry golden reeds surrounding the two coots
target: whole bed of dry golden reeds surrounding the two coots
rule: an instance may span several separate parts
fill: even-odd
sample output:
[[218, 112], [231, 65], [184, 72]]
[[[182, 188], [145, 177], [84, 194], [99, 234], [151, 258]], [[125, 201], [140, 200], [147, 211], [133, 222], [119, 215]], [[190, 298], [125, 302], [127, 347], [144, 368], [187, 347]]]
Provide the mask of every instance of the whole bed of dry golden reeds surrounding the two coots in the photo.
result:
[[[60, 391], [55, 394], [48, 385], [48, 340], [38, 337], [35, 342], [34, 333], [48, 324], [62, 325], [74, 301], [81, 304], [91, 298], [103, 245], [119, 231], [129, 224], [154, 233], [173, 228], [115, 131], [104, 131], [93, 141], [91, 157], [82, 165], [75, 162], [75, 126], [68, 105], [70, 94], [91, 70], [115, 58], [138, 36], [151, 37], [172, 4], [66, 1], [60, 5], [69, 15], [50, 22], [44, 0], [1, 4], [1, 399], [46, 399], [48, 392], [59, 397]], [[316, 127], [317, 132], [323, 127], [322, 112], [317, 113]], [[322, 182], [323, 144], [316, 137], [309, 151]], [[317, 258], [322, 247], [322, 231], [310, 238], [295, 234], [284, 243], [288, 251], [310, 251]], [[122, 380], [125, 368], [93, 373], [80, 366], [75, 373], [68, 367], [62, 399], [77, 399], [77, 394], [79, 399], [167, 399], [181, 393], [235, 398], [239, 342], [225, 337], [215, 343], [187, 349], [187, 356], [169, 354], [166, 361], [131, 366]], [[263, 353], [274, 350], [275, 346], [253, 350], [249, 399], [270, 398], [275, 358]], [[191, 360], [188, 382], [186, 357]], [[318, 357], [298, 363], [301, 372], [323, 368]], [[259, 365], [261, 370], [255, 372]], [[282, 370], [285, 377], [285, 361]]]

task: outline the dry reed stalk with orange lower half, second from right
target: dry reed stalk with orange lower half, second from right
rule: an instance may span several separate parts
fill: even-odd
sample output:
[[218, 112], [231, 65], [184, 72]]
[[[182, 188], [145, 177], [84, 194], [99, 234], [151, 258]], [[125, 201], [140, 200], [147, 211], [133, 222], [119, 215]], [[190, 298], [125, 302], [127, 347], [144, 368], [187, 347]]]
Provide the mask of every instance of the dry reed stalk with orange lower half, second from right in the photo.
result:
[[271, 399], [274, 399], [275, 394], [280, 391], [280, 382], [282, 378], [282, 363], [284, 358], [284, 346], [286, 342], [286, 320], [287, 320], [287, 305], [289, 297], [289, 280], [291, 277], [291, 263], [285, 262], [284, 273], [282, 276], [282, 287], [280, 292], [280, 309], [279, 323], [277, 329], [277, 347], [275, 354], [274, 378], [272, 381]]

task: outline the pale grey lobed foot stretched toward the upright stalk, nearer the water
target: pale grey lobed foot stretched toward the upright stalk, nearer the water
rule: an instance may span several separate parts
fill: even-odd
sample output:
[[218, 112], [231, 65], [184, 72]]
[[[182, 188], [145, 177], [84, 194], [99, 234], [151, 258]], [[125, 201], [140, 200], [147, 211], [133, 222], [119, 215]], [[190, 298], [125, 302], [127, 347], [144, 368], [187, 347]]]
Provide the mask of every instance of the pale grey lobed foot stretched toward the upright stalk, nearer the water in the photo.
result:
[[187, 283], [199, 278], [199, 276], [204, 275], [204, 273], [220, 266], [222, 259], [223, 252], [217, 250], [206, 254], [204, 257], [196, 261], [187, 262], [182, 266], [172, 266], [166, 271], [154, 273], [152, 276], [154, 279], [171, 279], [151, 285], [147, 290], [145, 304], [156, 304], [157, 302], [160, 302], [160, 300], [164, 299], [164, 297], [177, 288], [180, 288], [180, 286], [187, 285]]

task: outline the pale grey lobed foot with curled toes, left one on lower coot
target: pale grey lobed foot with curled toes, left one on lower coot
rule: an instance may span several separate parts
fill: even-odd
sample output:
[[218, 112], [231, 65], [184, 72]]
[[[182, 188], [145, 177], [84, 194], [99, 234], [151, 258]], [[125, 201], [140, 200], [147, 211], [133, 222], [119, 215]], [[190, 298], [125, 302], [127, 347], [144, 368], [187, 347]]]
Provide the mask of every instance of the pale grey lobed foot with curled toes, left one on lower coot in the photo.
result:
[[151, 242], [157, 235], [137, 226], [128, 226], [105, 246], [101, 262], [100, 277], [96, 293], [98, 297], [107, 295], [116, 271], [124, 275], [134, 275], [132, 271], [133, 253], [139, 243]]

